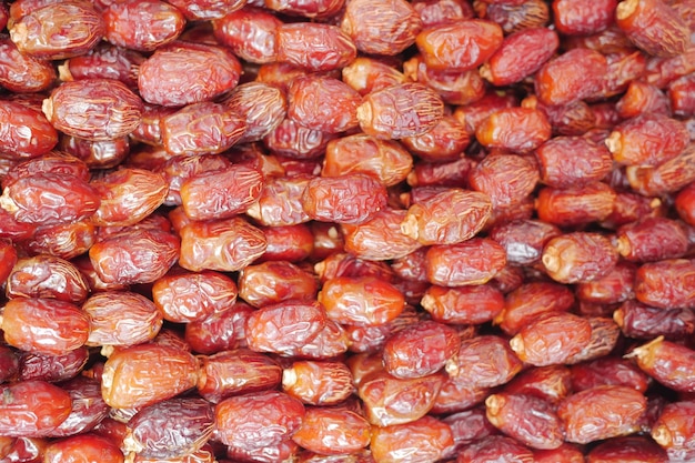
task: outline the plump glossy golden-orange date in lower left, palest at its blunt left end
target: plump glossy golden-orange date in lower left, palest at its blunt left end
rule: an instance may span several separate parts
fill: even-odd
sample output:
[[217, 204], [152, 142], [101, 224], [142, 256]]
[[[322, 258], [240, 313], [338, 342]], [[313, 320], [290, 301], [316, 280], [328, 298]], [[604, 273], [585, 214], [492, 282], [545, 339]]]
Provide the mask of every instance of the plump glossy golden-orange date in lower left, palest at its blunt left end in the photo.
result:
[[189, 352], [154, 343], [114, 350], [103, 365], [101, 392], [114, 409], [151, 405], [192, 389], [198, 361]]

